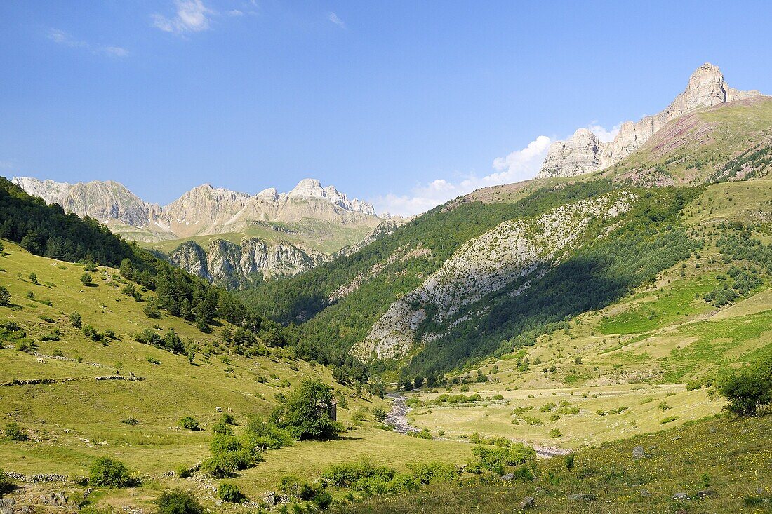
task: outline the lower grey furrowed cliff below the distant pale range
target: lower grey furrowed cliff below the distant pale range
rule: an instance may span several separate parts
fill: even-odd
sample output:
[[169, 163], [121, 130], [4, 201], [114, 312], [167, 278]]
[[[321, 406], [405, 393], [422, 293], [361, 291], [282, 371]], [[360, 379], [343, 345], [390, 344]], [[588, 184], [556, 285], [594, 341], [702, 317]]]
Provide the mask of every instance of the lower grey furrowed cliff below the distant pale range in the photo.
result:
[[243, 238], [240, 245], [213, 239], [206, 249], [186, 241], [169, 255], [174, 265], [229, 288], [244, 286], [257, 275], [296, 275], [327, 259], [320, 252], [283, 241], [269, 245], [260, 238]]

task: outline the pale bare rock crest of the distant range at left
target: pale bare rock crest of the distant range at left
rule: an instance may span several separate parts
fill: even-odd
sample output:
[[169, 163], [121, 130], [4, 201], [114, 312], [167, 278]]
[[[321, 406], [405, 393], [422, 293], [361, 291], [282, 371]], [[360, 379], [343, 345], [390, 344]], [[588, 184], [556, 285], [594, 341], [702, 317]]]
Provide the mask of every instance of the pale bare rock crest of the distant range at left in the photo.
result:
[[[66, 212], [120, 228], [127, 238], [144, 240], [239, 232], [255, 221], [316, 218], [371, 228], [381, 222], [371, 204], [349, 199], [334, 186], [323, 188], [312, 178], [303, 179], [292, 191], [281, 194], [275, 188], [252, 195], [203, 184], [163, 208], [141, 200], [114, 181], [67, 184], [30, 177], [15, 177], [12, 181], [48, 204], [59, 204]], [[130, 228], [141, 228], [141, 235]]]

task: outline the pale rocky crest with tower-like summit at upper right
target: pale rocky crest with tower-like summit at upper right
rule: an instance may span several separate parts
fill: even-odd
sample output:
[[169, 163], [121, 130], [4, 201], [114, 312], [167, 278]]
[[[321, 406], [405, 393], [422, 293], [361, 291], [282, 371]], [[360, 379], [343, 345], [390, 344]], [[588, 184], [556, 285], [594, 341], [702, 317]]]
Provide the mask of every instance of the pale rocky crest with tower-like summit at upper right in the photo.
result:
[[756, 90], [740, 91], [724, 82], [718, 66], [706, 63], [689, 77], [686, 90], [655, 116], [634, 123], [622, 123], [614, 140], [604, 143], [587, 129], [577, 130], [564, 141], [555, 141], [547, 153], [537, 178], [572, 177], [602, 170], [638, 150], [649, 137], [670, 120], [692, 110], [759, 96]]

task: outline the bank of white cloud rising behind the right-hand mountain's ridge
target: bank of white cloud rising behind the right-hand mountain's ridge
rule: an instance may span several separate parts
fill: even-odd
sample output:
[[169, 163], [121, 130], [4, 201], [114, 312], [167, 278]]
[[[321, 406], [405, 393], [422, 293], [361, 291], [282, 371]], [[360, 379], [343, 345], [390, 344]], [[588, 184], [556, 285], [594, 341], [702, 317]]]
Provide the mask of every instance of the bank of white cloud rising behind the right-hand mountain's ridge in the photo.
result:
[[385, 194], [371, 200], [376, 211], [383, 214], [389, 212], [403, 216], [411, 216], [428, 211], [437, 205], [452, 200], [462, 194], [468, 194], [479, 188], [499, 184], [511, 184], [533, 178], [538, 173], [552, 140], [547, 136], [539, 136], [522, 150], [513, 151], [506, 157], [498, 157], [493, 161], [496, 173], [477, 177], [469, 174], [460, 181], [447, 181], [438, 178], [428, 184], [418, 184], [411, 189], [410, 194]]

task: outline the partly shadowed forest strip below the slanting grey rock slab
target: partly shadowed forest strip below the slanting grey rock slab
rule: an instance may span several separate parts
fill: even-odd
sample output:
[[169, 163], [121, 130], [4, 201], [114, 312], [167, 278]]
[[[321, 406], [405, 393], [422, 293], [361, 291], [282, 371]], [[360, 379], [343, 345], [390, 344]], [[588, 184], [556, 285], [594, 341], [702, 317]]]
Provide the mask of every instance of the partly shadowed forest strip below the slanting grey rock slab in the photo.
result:
[[[529, 346], [536, 343], [537, 336], [567, 328], [572, 316], [601, 309], [654, 281], [663, 269], [700, 248], [702, 242], [690, 238], [679, 225], [681, 209], [696, 191], [663, 188], [636, 192], [640, 200], [615, 219], [618, 228], [604, 238], [588, 237], [584, 245], [520, 295], [510, 294], [522, 285], [515, 281], [465, 306], [458, 316], [469, 316], [462, 323], [433, 325], [428, 317], [419, 327], [419, 336], [422, 330], [430, 329], [443, 335], [425, 343], [404, 373], [452, 369], [492, 353], [499, 356]], [[431, 311], [431, 306], [423, 307]]]

